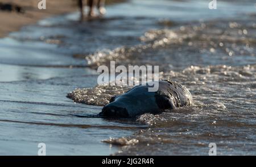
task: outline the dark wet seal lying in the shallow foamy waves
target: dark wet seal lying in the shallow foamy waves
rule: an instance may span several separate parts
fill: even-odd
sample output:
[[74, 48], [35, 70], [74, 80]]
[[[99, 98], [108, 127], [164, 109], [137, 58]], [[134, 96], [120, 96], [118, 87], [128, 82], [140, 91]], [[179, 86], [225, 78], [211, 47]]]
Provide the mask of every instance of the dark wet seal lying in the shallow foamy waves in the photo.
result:
[[148, 92], [148, 85], [138, 85], [123, 95], [114, 96], [105, 105], [100, 117], [135, 118], [144, 113], [158, 114], [192, 104], [191, 93], [183, 85], [159, 80], [156, 92]]

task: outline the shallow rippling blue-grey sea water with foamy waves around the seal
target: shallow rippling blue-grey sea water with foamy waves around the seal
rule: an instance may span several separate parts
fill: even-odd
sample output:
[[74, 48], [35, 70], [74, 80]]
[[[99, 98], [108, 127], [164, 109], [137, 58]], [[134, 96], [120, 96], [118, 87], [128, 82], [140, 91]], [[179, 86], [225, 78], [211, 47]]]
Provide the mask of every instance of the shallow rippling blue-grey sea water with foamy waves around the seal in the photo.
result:
[[[2, 38], [0, 154], [36, 155], [44, 142], [47, 155], [208, 155], [209, 143], [217, 155], [255, 155], [254, 3], [128, 1], [101, 19], [57, 16]], [[194, 104], [97, 118], [129, 89], [97, 85], [94, 69], [110, 61], [158, 65]]]

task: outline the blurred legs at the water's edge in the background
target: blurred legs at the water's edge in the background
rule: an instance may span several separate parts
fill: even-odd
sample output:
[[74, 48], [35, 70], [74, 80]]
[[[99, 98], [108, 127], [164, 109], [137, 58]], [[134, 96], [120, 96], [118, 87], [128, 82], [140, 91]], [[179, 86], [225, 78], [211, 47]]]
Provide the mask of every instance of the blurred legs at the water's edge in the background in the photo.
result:
[[[81, 20], [84, 19], [84, 3], [83, 0], [78, 0], [78, 5], [80, 8], [80, 14], [81, 14]], [[98, 11], [101, 15], [104, 15], [106, 13], [105, 10], [105, 0], [87, 0], [87, 6], [89, 7], [88, 16], [92, 17], [94, 16], [94, 7], [97, 6]]]

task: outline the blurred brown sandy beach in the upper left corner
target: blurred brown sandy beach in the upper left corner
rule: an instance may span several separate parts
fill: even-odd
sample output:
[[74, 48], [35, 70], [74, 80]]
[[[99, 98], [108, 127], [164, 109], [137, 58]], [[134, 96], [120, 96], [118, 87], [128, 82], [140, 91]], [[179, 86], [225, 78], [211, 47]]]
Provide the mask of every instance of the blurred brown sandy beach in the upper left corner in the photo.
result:
[[[107, 0], [106, 5], [123, 2], [117, 0]], [[54, 15], [67, 14], [79, 11], [76, 0], [51, 0], [46, 1], [46, 9], [39, 10], [38, 2], [35, 0], [2, 0], [1, 3], [12, 3], [22, 7], [24, 14], [15, 11], [0, 10], [0, 38], [6, 37], [9, 33], [19, 31], [20, 28], [35, 24], [38, 20], [45, 19]]]

